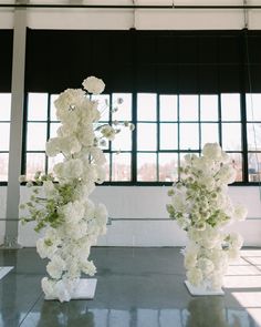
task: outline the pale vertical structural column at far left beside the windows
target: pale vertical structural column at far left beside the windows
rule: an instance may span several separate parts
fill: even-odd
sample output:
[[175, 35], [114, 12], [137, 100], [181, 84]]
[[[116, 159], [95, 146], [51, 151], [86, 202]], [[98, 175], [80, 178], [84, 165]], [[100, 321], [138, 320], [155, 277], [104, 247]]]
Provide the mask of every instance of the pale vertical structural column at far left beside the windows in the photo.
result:
[[[21, 3], [21, 1], [20, 1]], [[10, 152], [4, 247], [17, 248], [22, 155], [22, 125], [25, 70], [27, 9], [14, 10]]]

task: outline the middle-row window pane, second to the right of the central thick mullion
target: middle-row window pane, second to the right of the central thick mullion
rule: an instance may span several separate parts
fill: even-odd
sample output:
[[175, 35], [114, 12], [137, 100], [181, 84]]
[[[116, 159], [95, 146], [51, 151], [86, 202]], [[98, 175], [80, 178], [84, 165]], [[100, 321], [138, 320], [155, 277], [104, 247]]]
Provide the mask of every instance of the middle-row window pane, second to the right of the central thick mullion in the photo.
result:
[[178, 127], [177, 124], [160, 124], [160, 150], [177, 150], [178, 149]]

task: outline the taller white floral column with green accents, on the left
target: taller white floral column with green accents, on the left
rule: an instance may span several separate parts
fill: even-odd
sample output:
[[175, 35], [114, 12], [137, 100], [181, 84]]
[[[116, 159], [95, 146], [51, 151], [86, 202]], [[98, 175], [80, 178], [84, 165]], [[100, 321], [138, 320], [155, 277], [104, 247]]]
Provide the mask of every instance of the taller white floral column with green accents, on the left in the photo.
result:
[[[41, 258], [49, 258], [49, 277], [42, 279], [46, 299], [71, 299], [81, 274], [93, 276], [95, 266], [88, 259], [90, 249], [97, 237], [106, 233], [107, 211], [88, 197], [95, 183], [105, 178], [105, 155], [101, 150], [104, 139], [114, 140], [119, 124], [97, 124], [101, 119], [98, 102], [90, 93], [100, 94], [105, 84], [90, 76], [83, 89], [67, 89], [55, 100], [56, 116], [61, 121], [58, 136], [46, 143], [46, 155], [63, 154], [63, 162], [53, 167], [54, 175], [38, 172], [30, 202], [20, 205], [29, 212], [23, 222], [34, 221], [35, 231], [44, 228], [38, 239]], [[128, 122], [124, 123], [133, 130]], [[24, 180], [21, 176], [20, 182]], [[34, 187], [42, 185], [43, 187]]]

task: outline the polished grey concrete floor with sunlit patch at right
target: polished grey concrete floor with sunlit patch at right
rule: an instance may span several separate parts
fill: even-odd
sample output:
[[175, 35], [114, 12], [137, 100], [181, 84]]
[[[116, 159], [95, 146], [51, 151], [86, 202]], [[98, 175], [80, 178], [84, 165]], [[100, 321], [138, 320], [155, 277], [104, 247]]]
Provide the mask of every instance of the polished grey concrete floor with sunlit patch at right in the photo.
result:
[[0, 251], [4, 327], [258, 327], [261, 326], [261, 249], [246, 249], [230, 266], [225, 296], [187, 292], [180, 248], [94, 247], [97, 288], [93, 300], [44, 300], [46, 262], [34, 248]]

